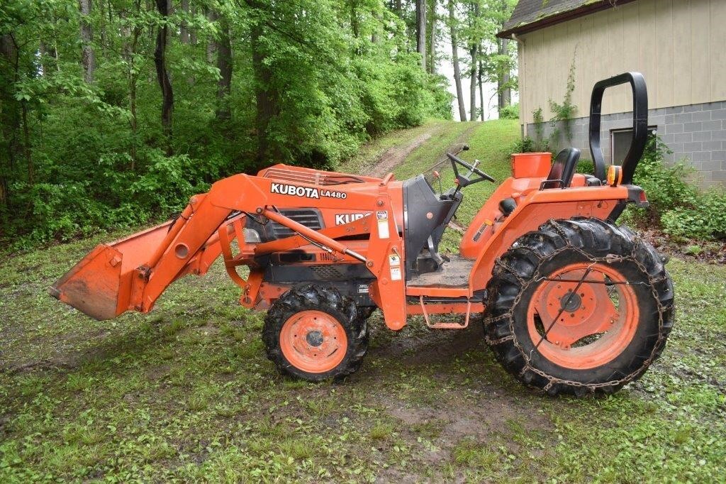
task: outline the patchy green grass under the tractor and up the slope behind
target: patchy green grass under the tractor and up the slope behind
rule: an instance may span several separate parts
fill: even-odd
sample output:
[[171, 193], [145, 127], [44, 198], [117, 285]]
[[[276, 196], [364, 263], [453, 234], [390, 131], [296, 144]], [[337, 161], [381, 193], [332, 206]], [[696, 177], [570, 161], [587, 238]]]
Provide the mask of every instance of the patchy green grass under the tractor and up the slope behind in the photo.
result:
[[[396, 169], [399, 178], [467, 132], [464, 155], [497, 179], [507, 174], [518, 130], [509, 121], [397, 132], [355, 163], [368, 166], [426, 129], [431, 138]], [[460, 222], [492, 188], [465, 189]], [[280, 376], [259, 342], [264, 315], [236, 304], [219, 263], [205, 278], [175, 283], [149, 315], [97, 322], [47, 296], [113, 236], [0, 262], [2, 483], [726, 475], [726, 267], [669, 262], [677, 325], [643, 379], [609, 398], [552, 399], [505, 374], [476, 324], [447, 332], [413, 321], [393, 333], [375, 316], [370, 353], [343, 384]]]

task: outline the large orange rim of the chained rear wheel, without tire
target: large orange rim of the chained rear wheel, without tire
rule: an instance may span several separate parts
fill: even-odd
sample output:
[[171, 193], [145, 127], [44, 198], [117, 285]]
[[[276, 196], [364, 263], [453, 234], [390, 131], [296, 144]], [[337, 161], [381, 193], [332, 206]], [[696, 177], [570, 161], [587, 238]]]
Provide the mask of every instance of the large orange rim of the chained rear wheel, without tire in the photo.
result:
[[628, 347], [640, 311], [635, 291], [624, 284], [627, 279], [621, 273], [604, 264], [579, 262], [547, 279], [527, 310], [529, 336], [544, 358], [587, 370], [611, 362]]

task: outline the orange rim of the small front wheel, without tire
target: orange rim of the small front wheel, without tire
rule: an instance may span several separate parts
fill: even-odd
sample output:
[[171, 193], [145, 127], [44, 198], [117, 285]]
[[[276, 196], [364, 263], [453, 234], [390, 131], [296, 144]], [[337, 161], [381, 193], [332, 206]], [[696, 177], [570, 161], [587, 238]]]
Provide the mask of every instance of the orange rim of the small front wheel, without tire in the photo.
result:
[[301, 311], [282, 325], [280, 348], [295, 368], [325, 373], [346, 357], [348, 336], [343, 325], [327, 312]]

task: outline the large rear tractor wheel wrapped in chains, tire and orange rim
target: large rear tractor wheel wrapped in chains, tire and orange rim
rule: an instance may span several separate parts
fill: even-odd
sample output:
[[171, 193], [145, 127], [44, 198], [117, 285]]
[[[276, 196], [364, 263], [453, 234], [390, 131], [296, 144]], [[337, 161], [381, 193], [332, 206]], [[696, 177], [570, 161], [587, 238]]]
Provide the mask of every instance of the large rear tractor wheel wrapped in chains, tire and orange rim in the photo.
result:
[[627, 227], [550, 221], [497, 260], [486, 339], [526, 384], [584, 395], [639, 378], [663, 350], [673, 288], [661, 257]]

